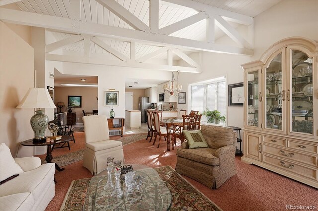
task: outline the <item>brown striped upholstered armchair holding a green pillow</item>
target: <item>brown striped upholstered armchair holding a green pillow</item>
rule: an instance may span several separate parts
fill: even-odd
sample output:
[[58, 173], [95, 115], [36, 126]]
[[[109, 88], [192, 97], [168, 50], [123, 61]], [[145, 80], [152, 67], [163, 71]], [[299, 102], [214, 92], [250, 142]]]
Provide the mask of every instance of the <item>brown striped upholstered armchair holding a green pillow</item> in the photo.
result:
[[230, 127], [215, 125], [201, 125], [201, 132], [208, 147], [189, 149], [188, 142], [183, 142], [177, 149], [176, 172], [217, 189], [237, 174], [237, 134]]

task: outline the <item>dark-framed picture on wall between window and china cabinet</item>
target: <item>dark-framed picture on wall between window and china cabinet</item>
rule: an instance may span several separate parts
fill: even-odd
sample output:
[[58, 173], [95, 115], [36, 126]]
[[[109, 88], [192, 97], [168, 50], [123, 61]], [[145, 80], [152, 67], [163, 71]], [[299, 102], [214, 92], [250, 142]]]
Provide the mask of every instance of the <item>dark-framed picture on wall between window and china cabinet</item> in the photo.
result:
[[228, 106], [244, 105], [244, 83], [228, 85]]

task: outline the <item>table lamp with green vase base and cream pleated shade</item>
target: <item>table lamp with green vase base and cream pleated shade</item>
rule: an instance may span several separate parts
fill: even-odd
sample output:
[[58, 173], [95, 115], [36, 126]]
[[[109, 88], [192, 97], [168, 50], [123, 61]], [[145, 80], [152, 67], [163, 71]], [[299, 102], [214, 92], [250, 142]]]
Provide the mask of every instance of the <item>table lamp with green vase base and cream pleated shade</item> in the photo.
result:
[[45, 130], [48, 126], [49, 117], [41, 108], [56, 108], [52, 98], [45, 88], [30, 88], [17, 108], [39, 108], [31, 117], [30, 123], [34, 131], [34, 142], [45, 142]]

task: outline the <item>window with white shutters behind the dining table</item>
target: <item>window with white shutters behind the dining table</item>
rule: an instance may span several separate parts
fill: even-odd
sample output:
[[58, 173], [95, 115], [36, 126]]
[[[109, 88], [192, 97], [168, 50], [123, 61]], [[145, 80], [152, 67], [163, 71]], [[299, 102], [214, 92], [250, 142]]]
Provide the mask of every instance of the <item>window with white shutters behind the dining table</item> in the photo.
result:
[[226, 114], [227, 97], [224, 77], [190, 85], [189, 89], [190, 110], [198, 110], [199, 113], [203, 113], [208, 108], [220, 111], [221, 115]]

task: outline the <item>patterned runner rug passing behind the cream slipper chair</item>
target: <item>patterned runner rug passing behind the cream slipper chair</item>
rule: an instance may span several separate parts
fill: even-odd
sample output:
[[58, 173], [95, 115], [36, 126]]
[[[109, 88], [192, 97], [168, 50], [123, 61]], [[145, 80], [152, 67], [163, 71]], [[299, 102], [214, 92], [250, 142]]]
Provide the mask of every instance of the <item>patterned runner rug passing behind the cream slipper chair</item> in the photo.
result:
[[[141, 139], [145, 139], [147, 134], [145, 133], [138, 133], [133, 134], [126, 137], [120, 137], [117, 141], [123, 142], [123, 145], [130, 144], [136, 141], [139, 141]], [[111, 139], [111, 137], [110, 137]], [[72, 164], [74, 162], [78, 162], [79, 160], [82, 160], [84, 158], [84, 149], [68, 153], [61, 156], [56, 156], [53, 158], [52, 162], [57, 163], [60, 167]], [[46, 163], [45, 158], [41, 160], [42, 164]]]

